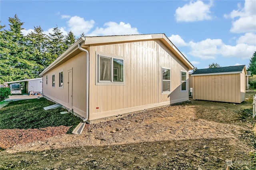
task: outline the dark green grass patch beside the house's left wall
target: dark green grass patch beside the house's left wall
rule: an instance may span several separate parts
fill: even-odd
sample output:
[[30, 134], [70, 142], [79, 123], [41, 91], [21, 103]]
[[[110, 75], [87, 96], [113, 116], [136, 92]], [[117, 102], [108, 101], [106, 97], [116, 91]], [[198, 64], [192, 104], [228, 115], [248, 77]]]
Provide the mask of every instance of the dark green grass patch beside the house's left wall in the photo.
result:
[[63, 108], [47, 111], [43, 109], [54, 104], [45, 98], [12, 101], [0, 109], [0, 129], [45, 128], [64, 125], [72, 126], [71, 130], [82, 121], [70, 113], [60, 114], [60, 112], [66, 111]]

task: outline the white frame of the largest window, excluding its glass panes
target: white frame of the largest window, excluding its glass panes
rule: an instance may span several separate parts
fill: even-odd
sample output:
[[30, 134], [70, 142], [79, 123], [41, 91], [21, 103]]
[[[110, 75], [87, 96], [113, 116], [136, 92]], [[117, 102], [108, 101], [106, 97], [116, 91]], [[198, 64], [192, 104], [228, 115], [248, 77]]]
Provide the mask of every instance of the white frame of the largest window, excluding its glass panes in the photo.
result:
[[[100, 80], [100, 57], [105, 57], [105, 58], [110, 58], [111, 59], [111, 80], [110, 81], [101, 81]], [[114, 71], [114, 68], [113, 68], [113, 59], [121, 59], [123, 60], [123, 81], [113, 81], [113, 78], [114, 78], [114, 75], [113, 75], [113, 71]], [[106, 55], [106, 54], [103, 54], [103, 53], [100, 53], [100, 52], [96, 52], [96, 67], [95, 67], [95, 73], [96, 73], [96, 76], [95, 76], [95, 84], [96, 85], [125, 85], [125, 73], [124, 73], [124, 70], [125, 70], [125, 59], [123, 57], [120, 57], [120, 56], [116, 56], [116, 55]]]

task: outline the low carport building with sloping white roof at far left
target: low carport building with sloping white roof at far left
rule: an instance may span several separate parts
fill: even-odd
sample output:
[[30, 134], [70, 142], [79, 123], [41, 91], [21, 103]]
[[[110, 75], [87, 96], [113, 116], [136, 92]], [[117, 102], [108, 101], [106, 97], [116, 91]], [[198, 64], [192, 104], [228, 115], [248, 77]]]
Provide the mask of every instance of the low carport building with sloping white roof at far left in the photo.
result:
[[[24, 84], [22, 82], [24, 82]], [[22, 89], [22, 93], [28, 94], [29, 91], [33, 91], [34, 93], [42, 93], [42, 77], [35, 78], [35, 79], [9, 81], [9, 82], [5, 82], [4, 84], [5, 85], [7, 84], [11, 87], [12, 83], [22, 83], [22, 85], [24, 85], [24, 88]]]

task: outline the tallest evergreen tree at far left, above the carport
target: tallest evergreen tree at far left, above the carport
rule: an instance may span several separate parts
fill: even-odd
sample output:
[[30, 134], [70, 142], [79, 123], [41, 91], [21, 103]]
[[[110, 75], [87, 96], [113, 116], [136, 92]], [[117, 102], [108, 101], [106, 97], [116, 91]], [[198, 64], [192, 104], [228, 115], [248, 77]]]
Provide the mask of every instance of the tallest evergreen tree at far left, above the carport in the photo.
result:
[[26, 37], [21, 32], [23, 23], [17, 15], [8, 21], [10, 29], [1, 26], [0, 33], [0, 83], [38, 77], [38, 64], [31, 60]]

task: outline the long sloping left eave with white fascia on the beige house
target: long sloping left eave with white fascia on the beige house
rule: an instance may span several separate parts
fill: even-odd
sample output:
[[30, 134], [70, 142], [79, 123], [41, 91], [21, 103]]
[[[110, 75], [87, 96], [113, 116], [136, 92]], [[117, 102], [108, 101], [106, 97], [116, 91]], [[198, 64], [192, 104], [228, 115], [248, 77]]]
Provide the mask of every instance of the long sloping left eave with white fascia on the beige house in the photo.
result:
[[48, 67], [46, 67], [46, 69], [44, 69], [44, 71], [42, 71], [42, 73], [40, 73], [39, 75], [42, 76], [44, 75], [44, 73], [46, 73], [48, 70], [50, 70], [52, 67], [54, 67], [55, 65], [57, 65], [60, 61], [62, 61], [63, 59], [65, 59], [70, 53], [74, 52], [76, 49], [78, 49], [78, 44], [84, 42], [85, 38], [81, 37], [79, 38], [75, 43], [73, 43], [66, 51], [64, 51], [64, 53], [62, 53], [62, 55], [60, 55], [57, 59], [55, 59]]

